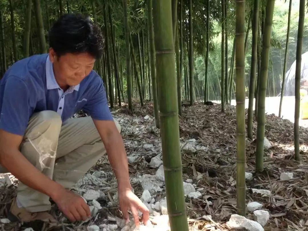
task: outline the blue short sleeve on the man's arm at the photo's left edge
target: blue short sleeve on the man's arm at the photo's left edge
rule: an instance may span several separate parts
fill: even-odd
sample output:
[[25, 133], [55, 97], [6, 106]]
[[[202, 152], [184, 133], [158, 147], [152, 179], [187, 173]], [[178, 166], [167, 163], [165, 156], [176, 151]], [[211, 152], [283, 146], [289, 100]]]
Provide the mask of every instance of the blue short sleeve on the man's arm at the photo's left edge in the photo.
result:
[[0, 129], [23, 136], [31, 115], [30, 93], [16, 76], [6, 80], [0, 115]]

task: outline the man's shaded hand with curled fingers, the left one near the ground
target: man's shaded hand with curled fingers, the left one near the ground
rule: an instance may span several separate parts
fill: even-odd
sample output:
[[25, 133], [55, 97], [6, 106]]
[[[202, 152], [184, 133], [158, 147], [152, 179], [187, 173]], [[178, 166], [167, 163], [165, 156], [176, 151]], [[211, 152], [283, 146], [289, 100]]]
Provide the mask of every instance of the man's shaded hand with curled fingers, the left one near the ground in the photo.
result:
[[71, 222], [85, 221], [91, 217], [89, 206], [83, 198], [67, 189], [53, 200]]

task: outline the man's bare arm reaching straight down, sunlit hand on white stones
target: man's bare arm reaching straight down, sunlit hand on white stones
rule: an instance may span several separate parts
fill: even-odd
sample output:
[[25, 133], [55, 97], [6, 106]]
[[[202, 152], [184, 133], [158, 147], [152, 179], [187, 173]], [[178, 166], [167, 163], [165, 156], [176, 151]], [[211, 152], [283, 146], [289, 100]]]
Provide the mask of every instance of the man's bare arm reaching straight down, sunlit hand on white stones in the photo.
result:
[[128, 161], [123, 140], [113, 120], [93, 120], [105, 145], [108, 160], [115, 173], [119, 189], [119, 202], [123, 216], [128, 221], [128, 209], [131, 210], [136, 226], [139, 225], [137, 210], [143, 214], [143, 222], [149, 217], [148, 208], [131, 191], [129, 182]]

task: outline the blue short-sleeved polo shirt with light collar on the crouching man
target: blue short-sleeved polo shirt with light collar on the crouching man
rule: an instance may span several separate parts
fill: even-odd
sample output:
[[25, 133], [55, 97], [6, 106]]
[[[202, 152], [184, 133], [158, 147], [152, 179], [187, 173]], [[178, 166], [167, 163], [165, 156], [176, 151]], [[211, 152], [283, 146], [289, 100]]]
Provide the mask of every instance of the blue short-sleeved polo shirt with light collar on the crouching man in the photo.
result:
[[62, 121], [83, 109], [95, 120], [113, 120], [103, 81], [95, 71], [65, 92], [55, 80], [48, 54], [14, 63], [0, 80], [0, 129], [23, 136], [31, 115], [51, 110]]

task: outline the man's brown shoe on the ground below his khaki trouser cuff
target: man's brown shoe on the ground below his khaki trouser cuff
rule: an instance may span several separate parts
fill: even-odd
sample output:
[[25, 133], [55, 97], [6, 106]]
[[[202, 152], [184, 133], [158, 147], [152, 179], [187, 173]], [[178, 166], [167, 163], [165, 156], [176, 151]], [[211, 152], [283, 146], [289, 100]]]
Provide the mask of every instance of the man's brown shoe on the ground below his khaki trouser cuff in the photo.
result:
[[48, 212], [35, 212], [31, 213], [25, 208], [19, 208], [16, 202], [16, 197], [12, 201], [10, 211], [9, 211], [9, 220], [14, 221], [18, 219], [23, 222], [30, 222], [34, 220], [56, 222], [57, 220]]

